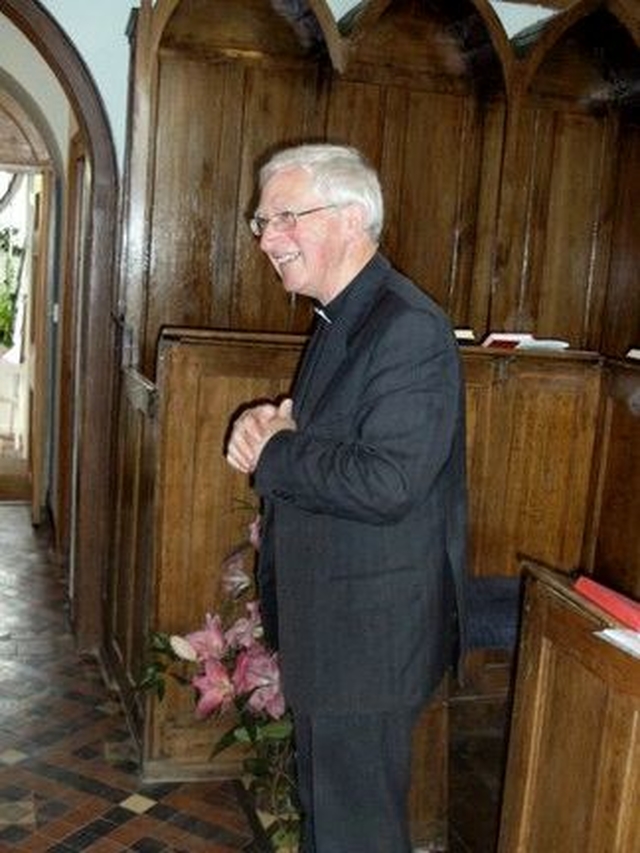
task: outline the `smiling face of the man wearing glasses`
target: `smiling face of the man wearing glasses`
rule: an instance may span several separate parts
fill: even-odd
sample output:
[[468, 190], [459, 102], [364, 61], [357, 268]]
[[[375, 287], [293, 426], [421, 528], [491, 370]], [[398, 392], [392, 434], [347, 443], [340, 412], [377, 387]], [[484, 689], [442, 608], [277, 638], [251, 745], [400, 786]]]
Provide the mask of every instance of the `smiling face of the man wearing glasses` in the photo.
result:
[[[283, 211], [294, 213], [324, 207], [304, 169], [292, 167], [276, 173], [265, 184], [258, 213], [267, 219]], [[285, 290], [330, 302], [350, 279], [348, 250], [352, 229], [345, 210], [327, 207], [301, 216], [294, 225], [280, 230], [267, 225], [260, 248], [267, 255]]]

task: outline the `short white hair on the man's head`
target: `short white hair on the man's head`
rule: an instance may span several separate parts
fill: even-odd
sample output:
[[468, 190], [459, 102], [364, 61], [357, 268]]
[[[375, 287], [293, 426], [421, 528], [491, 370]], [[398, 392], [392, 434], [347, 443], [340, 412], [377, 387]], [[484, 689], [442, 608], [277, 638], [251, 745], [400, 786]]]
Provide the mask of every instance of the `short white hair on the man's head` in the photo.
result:
[[377, 172], [363, 155], [347, 145], [297, 145], [274, 154], [260, 170], [260, 188], [277, 172], [304, 169], [316, 190], [330, 204], [358, 204], [365, 213], [365, 230], [377, 243], [384, 222], [384, 201]]

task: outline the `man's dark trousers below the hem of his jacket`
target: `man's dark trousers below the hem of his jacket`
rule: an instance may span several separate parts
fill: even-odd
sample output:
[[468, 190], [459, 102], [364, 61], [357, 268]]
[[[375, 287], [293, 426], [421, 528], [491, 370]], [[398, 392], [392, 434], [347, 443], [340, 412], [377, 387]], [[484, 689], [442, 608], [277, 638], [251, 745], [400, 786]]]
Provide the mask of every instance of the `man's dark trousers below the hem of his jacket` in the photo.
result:
[[417, 710], [296, 716], [301, 853], [411, 853]]

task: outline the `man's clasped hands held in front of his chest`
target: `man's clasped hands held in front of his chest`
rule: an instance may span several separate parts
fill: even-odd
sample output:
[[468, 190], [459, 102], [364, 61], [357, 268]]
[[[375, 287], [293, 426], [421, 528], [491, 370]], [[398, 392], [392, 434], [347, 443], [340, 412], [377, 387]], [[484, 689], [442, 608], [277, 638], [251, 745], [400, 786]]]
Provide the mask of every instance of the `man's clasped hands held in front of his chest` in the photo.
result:
[[292, 409], [293, 400], [288, 397], [279, 405], [259, 403], [245, 409], [231, 428], [226, 453], [229, 465], [243, 474], [252, 474], [269, 439], [281, 430], [296, 429]]

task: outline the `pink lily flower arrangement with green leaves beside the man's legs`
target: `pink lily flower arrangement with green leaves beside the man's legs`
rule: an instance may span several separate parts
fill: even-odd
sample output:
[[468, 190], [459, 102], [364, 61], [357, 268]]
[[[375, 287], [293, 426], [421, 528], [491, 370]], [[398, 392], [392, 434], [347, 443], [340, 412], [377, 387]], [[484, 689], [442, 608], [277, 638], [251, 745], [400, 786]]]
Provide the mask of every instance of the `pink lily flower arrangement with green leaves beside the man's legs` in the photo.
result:
[[254, 522], [250, 541], [224, 561], [221, 613], [207, 614], [201, 628], [184, 636], [161, 631], [151, 635], [151, 659], [139, 687], [162, 699], [165, 679], [171, 676], [194, 691], [196, 717], [231, 718], [212, 757], [234, 744], [244, 747], [244, 779], [258, 812], [267, 816], [267, 837], [274, 850], [293, 853], [300, 817], [292, 720], [281, 690], [278, 656], [264, 641], [259, 605], [251, 598], [253, 583], [245, 569], [246, 553], [250, 546], [257, 547], [257, 537]]

